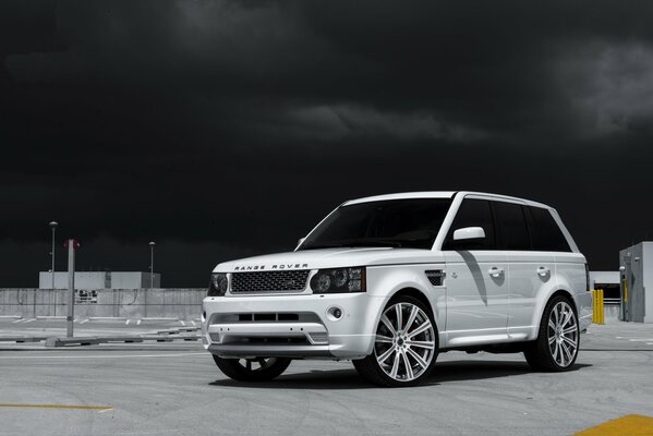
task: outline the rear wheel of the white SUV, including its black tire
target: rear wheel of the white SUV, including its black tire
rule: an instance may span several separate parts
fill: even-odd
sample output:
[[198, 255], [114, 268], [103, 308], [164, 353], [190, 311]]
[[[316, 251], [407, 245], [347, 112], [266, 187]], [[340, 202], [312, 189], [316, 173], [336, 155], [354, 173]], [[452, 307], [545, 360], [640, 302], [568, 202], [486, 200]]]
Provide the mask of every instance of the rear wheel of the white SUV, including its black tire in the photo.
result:
[[537, 339], [523, 354], [533, 370], [563, 372], [573, 367], [579, 346], [580, 328], [573, 303], [557, 295], [546, 304]]

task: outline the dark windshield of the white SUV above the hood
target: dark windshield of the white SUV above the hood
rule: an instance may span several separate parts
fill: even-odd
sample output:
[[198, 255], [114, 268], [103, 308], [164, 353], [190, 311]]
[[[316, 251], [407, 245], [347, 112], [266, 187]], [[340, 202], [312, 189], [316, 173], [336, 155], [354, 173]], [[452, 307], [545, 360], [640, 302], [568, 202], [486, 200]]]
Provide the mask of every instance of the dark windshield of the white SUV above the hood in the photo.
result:
[[407, 198], [342, 206], [299, 250], [349, 246], [431, 250], [450, 204], [449, 198]]

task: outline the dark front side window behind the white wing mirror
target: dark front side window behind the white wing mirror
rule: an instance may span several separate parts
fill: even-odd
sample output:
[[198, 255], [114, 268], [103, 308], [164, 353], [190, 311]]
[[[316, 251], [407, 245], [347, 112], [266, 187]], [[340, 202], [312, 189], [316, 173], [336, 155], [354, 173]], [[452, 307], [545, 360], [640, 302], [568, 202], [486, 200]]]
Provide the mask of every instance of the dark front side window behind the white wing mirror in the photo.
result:
[[[464, 227], [483, 228], [485, 239], [483, 241], [454, 241], [454, 231]], [[443, 250], [494, 250], [494, 226], [488, 201], [462, 201], [443, 244]]]

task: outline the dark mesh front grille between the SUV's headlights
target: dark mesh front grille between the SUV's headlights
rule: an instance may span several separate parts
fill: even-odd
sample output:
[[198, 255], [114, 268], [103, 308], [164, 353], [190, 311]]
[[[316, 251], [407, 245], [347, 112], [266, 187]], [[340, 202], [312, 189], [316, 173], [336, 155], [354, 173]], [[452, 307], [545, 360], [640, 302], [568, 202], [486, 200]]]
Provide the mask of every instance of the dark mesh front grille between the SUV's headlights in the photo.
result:
[[303, 291], [309, 279], [309, 269], [286, 271], [233, 272], [231, 292]]

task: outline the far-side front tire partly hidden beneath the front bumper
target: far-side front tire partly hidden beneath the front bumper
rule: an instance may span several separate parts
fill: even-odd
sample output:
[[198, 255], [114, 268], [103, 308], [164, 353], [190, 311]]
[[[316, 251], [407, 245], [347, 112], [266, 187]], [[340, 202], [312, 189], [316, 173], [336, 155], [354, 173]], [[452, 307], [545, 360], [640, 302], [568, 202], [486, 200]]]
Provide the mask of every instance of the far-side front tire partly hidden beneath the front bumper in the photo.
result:
[[255, 358], [222, 359], [214, 354], [214, 361], [222, 373], [238, 382], [269, 382], [280, 376], [291, 359]]

